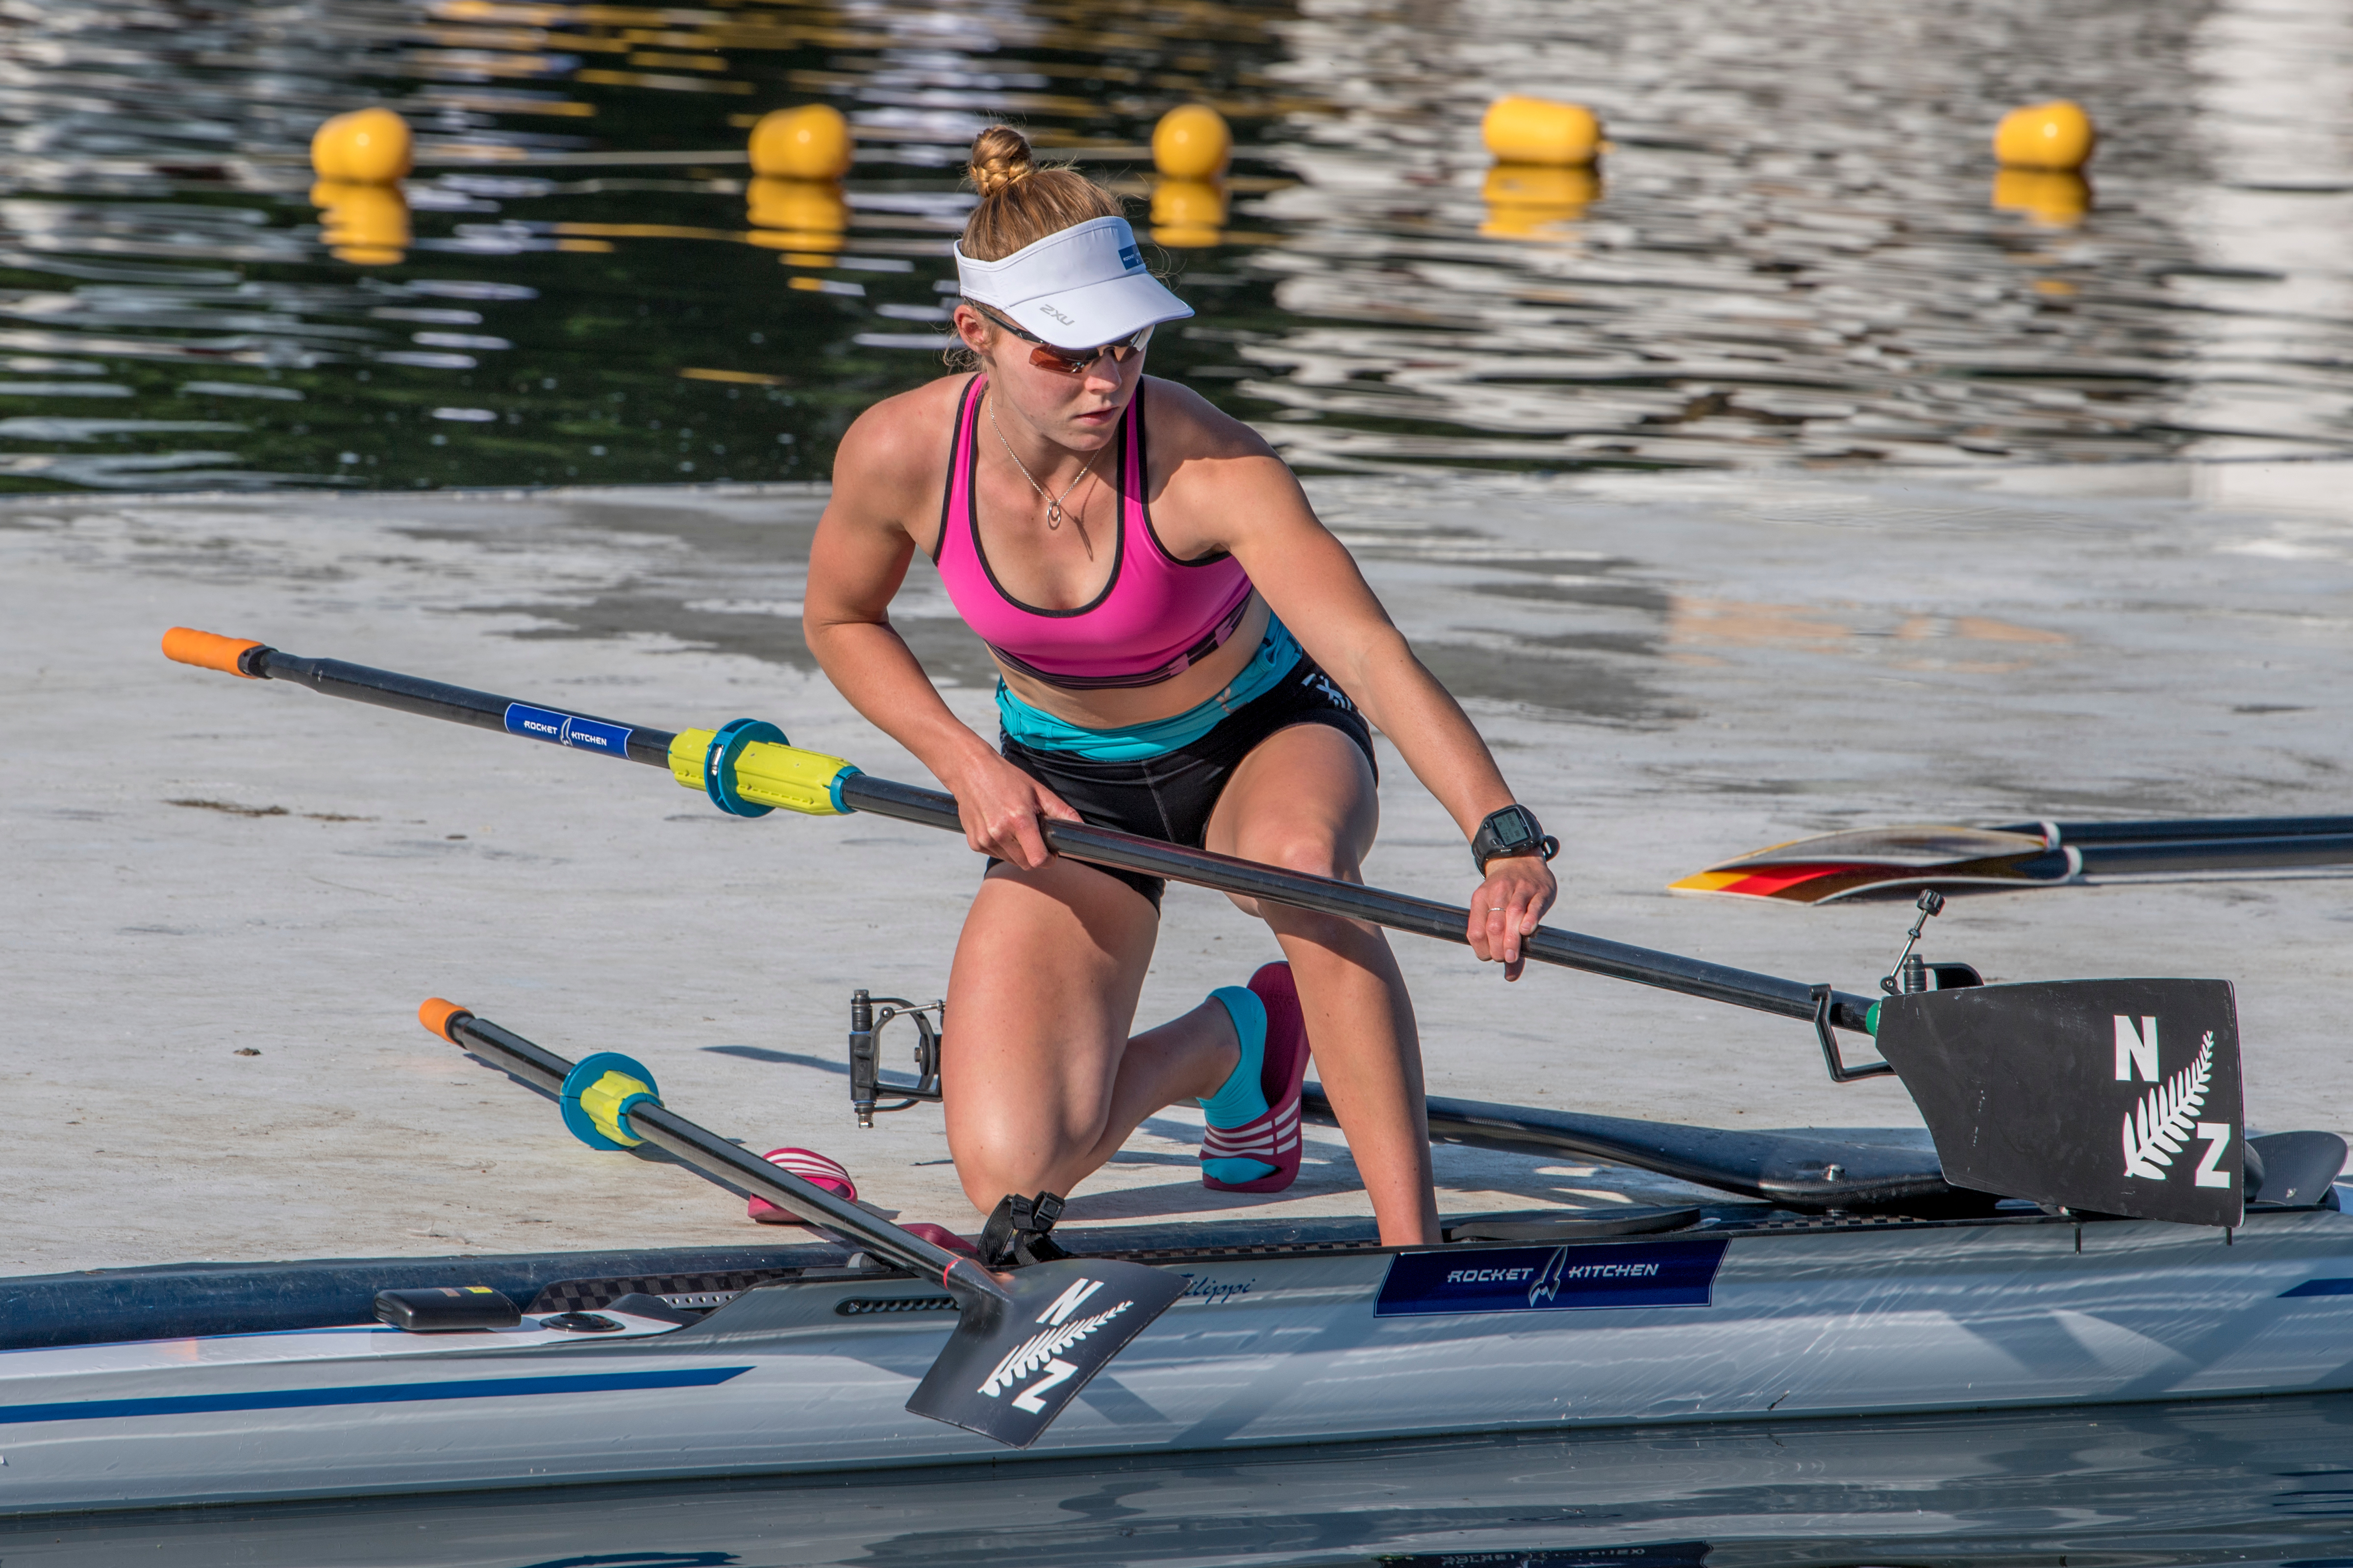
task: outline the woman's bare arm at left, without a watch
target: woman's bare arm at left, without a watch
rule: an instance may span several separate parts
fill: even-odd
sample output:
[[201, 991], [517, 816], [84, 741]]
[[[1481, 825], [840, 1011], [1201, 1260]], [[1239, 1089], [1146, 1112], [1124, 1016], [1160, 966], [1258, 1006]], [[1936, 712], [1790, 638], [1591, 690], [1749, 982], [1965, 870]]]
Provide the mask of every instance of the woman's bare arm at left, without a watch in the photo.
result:
[[[927, 388], [929, 390], [929, 388]], [[1047, 860], [1038, 816], [1078, 820], [958, 719], [889, 623], [889, 602], [915, 559], [908, 517], [939, 512], [934, 428], [908, 393], [868, 409], [833, 461], [833, 501], [809, 545], [800, 635], [849, 705], [948, 785], [972, 849], [1038, 867]], [[929, 484], [925, 480], [929, 477]]]

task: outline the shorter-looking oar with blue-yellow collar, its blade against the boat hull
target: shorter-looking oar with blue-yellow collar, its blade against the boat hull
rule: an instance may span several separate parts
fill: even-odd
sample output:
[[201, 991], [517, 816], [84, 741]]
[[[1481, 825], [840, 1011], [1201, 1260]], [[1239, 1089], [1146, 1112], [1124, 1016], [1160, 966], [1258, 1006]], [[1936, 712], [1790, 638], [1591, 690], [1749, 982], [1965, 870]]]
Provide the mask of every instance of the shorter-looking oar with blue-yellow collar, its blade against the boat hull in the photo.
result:
[[1012, 1448], [1028, 1448], [1087, 1380], [1184, 1295], [1186, 1276], [1113, 1258], [1033, 1262], [991, 1274], [972, 1258], [880, 1220], [816, 1182], [772, 1166], [661, 1105], [654, 1074], [600, 1051], [567, 1063], [553, 1051], [433, 997], [416, 1018], [492, 1067], [555, 1095], [565, 1126], [600, 1150], [649, 1143], [736, 1182], [809, 1225], [852, 1237], [955, 1298], [958, 1321], [906, 1408]]

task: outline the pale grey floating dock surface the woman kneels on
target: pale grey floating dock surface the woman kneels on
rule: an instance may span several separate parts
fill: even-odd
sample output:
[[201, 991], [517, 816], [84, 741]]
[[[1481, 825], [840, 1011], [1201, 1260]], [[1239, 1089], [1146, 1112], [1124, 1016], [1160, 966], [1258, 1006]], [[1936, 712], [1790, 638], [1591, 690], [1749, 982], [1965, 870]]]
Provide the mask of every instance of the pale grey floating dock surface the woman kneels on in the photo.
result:
[[[2353, 811], [2346, 465], [1322, 482], [1318, 505], [1558, 830], [1558, 924], [1871, 990], [1904, 905], [1678, 900], [1774, 839], [1899, 820]], [[758, 715], [925, 783], [805, 670], [802, 489], [24, 496], [0, 503], [0, 940], [14, 1159], [0, 1272], [193, 1258], [779, 1244], [680, 1168], [576, 1145], [414, 1023], [445, 994], [565, 1056], [628, 1051], [753, 1147], [974, 1229], [936, 1110], [856, 1131], [854, 985], [932, 997], [972, 856], [875, 820], [718, 816], [654, 769], [165, 663], [174, 623], [659, 729]], [[918, 564], [904, 625], [967, 684]], [[193, 804], [191, 804], [193, 802]], [[1384, 750], [1372, 877], [1461, 898], [1454, 827]], [[2334, 872], [1955, 898], [1988, 978], [2238, 983], [2247, 1117], [2353, 1131]], [[1915, 1126], [1802, 1025], [1398, 938], [1431, 1093], [1715, 1126]], [[1148, 1018], [1273, 957], [1172, 889]], [[889, 1037], [899, 1048], [904, 1025]], [[951, 1027], [953, 1039], [953, 1027]], [[1360, 1213], [1207, 1194], [1167, 1112], [1071, 1225]], [[1447, 1213], [1654, 1201], [1624, 1171], [1440, 1150]]]

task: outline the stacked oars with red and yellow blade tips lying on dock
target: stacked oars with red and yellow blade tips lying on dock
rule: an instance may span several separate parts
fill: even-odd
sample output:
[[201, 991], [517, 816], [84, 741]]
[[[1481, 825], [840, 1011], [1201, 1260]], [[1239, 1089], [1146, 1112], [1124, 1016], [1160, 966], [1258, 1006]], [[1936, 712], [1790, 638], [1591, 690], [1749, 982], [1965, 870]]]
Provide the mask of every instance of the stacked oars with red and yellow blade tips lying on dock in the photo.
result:
[[1922, 886], [2059, 886], [2085, 875], [2245, 872], [2353, 863], [2353, 816], [2158, 823], [1847, 827], [1718, 860], [1671, 893], [1831, 903]]

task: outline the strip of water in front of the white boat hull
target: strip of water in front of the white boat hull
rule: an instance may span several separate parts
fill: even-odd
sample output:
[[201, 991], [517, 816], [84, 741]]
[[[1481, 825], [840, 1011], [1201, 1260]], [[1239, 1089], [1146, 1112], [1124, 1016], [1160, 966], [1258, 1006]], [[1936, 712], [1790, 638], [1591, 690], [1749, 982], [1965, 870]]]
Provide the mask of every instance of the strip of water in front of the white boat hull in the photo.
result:
[[2275, 1399], [1026, 1460], [0, 1523], [9, 1563], [2344, 1563], [2353, 1408]]

